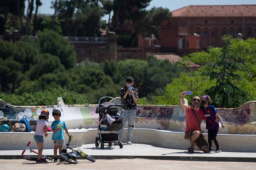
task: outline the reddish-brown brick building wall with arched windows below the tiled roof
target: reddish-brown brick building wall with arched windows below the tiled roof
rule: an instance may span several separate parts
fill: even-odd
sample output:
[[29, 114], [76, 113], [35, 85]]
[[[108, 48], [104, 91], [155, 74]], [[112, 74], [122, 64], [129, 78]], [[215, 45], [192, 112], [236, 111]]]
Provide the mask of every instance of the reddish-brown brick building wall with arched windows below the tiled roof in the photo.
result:
[[[201, 48], [223, 46], [221, 37], [224, 33], [233, 34], [234, 38], [242, 33], [244, 40], [256, 37], [256, 17], [173, 17], [161, 25], [161, 47], [178, 48], [178, 38], [186, 39], [185, 34], [194, 33], [201, 35]], [[184, 47], [187, 48], [187, 45]]]

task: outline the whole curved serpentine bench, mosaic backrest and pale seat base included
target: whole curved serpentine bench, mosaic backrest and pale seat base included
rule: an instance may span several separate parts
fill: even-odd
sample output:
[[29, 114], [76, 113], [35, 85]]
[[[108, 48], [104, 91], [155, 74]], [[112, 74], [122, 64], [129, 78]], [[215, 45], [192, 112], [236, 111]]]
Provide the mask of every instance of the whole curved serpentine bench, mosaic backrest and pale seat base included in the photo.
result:
[[[116, 99], [120, 103], [120, 98]], [[54, 108], [59, 109], [62, 112], [61, 119], [66, 122], [71, 134], [76, 136], [74, 144], [81, 146], [95, 141], [95, 128], [99, 124], [98, 114], [95, 114], [96, 107], [97, 105], [65, 105], [60, 97], [57, 105], [50, 106], [13, 106], [0, 99], [0, 118], [11, 121], [27, 115], [28, 119], [37, 120], [41, 109], [46, 108], [50, 113]], [[247, 102], [238, 108], [217, 108], [217, 111], [226, 123], [226, 128], [221, 128], [217, 136], [222, 150], [256, 152], [256, 101]], [[52, 121], [54, 119], [50, 114], [48, 125]], [[184, 139], [185, 121], [185, 112], [180, 106], [138, 105], [132, 142], [186, 149], [188, 141]], [[34, 130], [35, 125], [31, 128]], [[204, 123], [201, 128], [203, 132], [207, 132], [204, 131]], [[35, 143], [33, 144], [33, 132], [0, 132], [0, 135], [1, 150], [24, 149], [28, 140], [36, 148]], [[53, 147], [51, 135], [50, 132], [45, 138], [44, 148]], [[121, 140], [125, 141], [125, 138]]]

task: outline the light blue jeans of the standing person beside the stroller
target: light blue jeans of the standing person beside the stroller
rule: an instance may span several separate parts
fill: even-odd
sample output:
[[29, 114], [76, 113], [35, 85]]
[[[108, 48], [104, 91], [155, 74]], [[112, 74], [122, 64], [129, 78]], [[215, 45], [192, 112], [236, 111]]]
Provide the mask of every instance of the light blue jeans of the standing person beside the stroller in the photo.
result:
[[130, 141], [132, 138], [132, 129], [134, 128], [136, 112], [137, 112], [137, 109], [134, 109], [134, 110], [126, 109], [123, 114], [123, 128], [121, 130], [119, 130], [118, 136], [119, 136], [119, 138], [122, 137], [124, 126], [125, 126], [126, 120], [128, 118], [128, 131], [127, 131], [127, 135], [126, 135], [127, 142]]

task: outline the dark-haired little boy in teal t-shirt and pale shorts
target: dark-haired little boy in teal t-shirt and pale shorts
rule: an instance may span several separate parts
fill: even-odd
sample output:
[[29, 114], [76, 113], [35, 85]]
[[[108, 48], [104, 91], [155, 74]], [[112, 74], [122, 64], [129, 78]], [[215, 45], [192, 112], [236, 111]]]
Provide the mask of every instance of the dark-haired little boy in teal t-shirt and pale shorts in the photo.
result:
[[[59, 154], [62, 150], [62, 145], [64, 145], [64, 130], [68, 137], [71, 137], [71, 135], [68, 133], [67, 126], [64, 121], [60, 120], [61, 113], [59, 110], [54, 110], [52, 112], [52, 116], [55, 121], [52, 122], [51, 128], [52, 128], [52, 140], [53, 140], [53, 153], [54, 153], [54, 162], [58, 162], [57, 158], [57, 149], [59, 148]], [[64, 129], [64, 130], [63, 130]], [[63, 162], [63, 160], [60, 158], [60, 162]]]

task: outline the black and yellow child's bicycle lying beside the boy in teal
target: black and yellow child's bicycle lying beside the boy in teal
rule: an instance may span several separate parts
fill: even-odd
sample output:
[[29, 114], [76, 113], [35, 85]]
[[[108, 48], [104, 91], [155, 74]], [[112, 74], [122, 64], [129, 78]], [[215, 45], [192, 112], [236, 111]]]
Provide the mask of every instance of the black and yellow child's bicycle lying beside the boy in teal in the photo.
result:
[[[80, 158], [85, 158], [91, 162], [95, 162], [95, 159], [93, 157], [91, 157], [90, 155], [86, 154], [85, 152], [83, 152], [81, 149], [73, 149], [72, 147], [70, 147], [70, 142], [72, 141], [73, 136], [71, 136], [68, 139], [68, 143], [67, 143], [67, 147], [65, 149], [62, 149], [61, 153], [60, 153], [60, 157], [62, 158], [62, 160], [68, 162], [68, 163], [72, 163], [72, 164], [77, 164], [77, 159]], [[73, 144], [74, 145], [74, 144]], [[71, 152], [68, 152], [68, 150], [71, 150]]]

